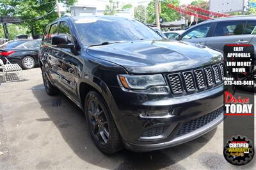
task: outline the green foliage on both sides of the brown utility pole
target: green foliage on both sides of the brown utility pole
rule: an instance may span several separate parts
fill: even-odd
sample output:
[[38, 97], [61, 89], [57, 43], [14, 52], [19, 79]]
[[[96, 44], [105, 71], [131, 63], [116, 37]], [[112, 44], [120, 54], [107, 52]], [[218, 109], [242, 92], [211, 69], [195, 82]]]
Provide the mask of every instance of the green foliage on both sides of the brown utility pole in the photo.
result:
[[[179, 6], [180, 2], [179, 0], [165, 0], [164, 2], [161, 2], [161, 13], [160, 17], [164, 18], [164, 22], [178, 20], [179, 19], [179, 13], [177, 13], [172, 8], [169, 8], [166, 6], [166, 4], [173, 4], [174, 6]], [[150, 3], [147, 6], [147, 13], [148, 13], [148, 23], [155, 23], [156, 22], [156, 15], [155, 15], [155, 5], [154, 0], [150, 1]]]

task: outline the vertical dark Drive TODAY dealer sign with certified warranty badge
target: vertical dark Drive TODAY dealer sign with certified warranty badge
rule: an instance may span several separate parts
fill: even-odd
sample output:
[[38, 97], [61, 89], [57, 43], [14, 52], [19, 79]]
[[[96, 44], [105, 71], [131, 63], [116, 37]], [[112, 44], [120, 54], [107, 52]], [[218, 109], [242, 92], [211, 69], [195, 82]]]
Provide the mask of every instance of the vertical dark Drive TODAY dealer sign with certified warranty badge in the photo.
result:
[[227, 76], [224, 79], [223, 155], [234, 165], [250, 162], [254, 155], [254, 47], [224, 47]]

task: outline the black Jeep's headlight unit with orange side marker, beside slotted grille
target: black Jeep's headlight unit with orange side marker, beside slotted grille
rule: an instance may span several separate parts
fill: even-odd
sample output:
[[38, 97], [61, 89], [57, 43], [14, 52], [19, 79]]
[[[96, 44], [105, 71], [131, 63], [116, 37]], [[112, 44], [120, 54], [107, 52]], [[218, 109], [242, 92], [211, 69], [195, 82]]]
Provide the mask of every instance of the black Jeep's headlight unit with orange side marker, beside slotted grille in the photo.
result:
[[169, 93], [164, 77], [155, 75], [118, 75], [118, 82], [124, 91], [136, 93]]

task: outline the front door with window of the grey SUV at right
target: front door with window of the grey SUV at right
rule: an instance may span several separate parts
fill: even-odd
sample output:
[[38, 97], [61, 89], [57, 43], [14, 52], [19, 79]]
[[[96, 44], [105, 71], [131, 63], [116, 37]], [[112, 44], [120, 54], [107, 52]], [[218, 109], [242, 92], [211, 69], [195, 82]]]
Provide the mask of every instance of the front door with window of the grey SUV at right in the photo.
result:
[[210, 36], [211, 34], [212, 27], [212, 23], [200, 24], [199, 26], [192, 27], [181, 35], [181, 40], [205, 45], [207, 36]]

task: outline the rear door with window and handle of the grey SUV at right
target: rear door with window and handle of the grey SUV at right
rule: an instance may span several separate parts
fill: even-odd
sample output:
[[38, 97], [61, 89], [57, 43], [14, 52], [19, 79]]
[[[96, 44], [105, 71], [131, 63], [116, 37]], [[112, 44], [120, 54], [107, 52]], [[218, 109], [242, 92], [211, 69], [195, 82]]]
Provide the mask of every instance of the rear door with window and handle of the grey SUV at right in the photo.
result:
[[207, 38], [205, 45], [223, 51], [224, 45], [228, 43], [250, 43], [255, 26], [255, 20], [217, 22], [212, 36]]

